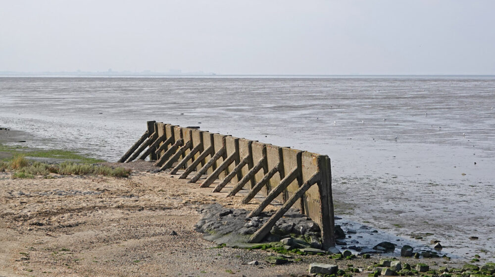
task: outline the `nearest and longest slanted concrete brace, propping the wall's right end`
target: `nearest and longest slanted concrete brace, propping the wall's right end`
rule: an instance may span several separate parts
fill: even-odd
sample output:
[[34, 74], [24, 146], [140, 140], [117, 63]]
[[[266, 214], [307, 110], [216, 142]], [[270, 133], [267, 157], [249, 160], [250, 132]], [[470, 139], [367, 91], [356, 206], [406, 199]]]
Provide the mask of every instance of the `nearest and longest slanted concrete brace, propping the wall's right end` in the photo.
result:
[[313, 176], [304, 182], [304, 184], [296, 191], [296, 193], [284, 203], [282, 208], [278, 210], [273, 216], [259, 228], [254, 234], [251, 235], [248, 242], [258, 243], [260, 242], [272, 229], [275, 223], [296, 203], [296, 201], [316, 182], [321, 180], [320, 172], [316, 172]]

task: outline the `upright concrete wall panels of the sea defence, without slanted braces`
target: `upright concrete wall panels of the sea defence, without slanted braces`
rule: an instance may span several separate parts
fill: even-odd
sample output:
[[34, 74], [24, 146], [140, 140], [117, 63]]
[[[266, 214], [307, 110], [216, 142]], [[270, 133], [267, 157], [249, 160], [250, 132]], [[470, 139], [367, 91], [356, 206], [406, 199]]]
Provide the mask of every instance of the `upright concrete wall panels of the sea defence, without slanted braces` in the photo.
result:
[[[192, 146], [185, 150], [179, 161], [187, 156], [191, 150], [199, 145], [199, 151], [194, 155], [193, 159], [187, 161], [186, 167], [190, 166], [199, 155], [212, 146], [212, 151], [204, 158], [196, 168], [198, 171], [210, 159], [220, 151], [225, 149], [225, 153], [209, 167], [205, 174], [210, 175], [217, 167], [222, 165], [230, 155], [234, 154], [233, 162], [218, 175], [218, 179], [225, 178], [234, 168], [246, 157], [248, 157], [247, 165], [243, 166], [230, 181], [234, 185], [237, 184], [247, 172], [253, 168], [258, 162], [262, 161], [262, 168], [254, 174], [254, 176], [244, 185], [244, 188], [251, 189], [258, 183], [266, 173], [277, 167], [277, 172], [269, 179], [260, 193], [267, 195], [270, 191], [277, 187], [281, 180], [289, 175], [294, 169], [297, 171], [297, 178], [294, 179], [288, 187], [277, 196], [276, 200], [285, 203], [296, 191], [315, 174], [319, 174], [320, 178], [317, 185], [311, 186], [304, 195], [294, 204], [294, 208], [301, 209], [301, 212], [309, 216], [313, 221], [317, 222], [320, 227], [329, 228], [333, 232], [334, 215], [332, 203], [331, 189], [331, 171], [330, 159], [326, 155], [319, 155], [306, 151], [291, 149], [287, 147], [279, 147], [276, 145], [265, 144], [258, 141], [251, 141], [245, 138], [236, 138], [222, 134], [212, 134], [207, 131], [198, 129], [183, 128], [161, 122], [154, 123], [155, 130], [158, 132], [158, 137], [165, 134], [166, 139], [172, 137], [173, 142], [158, 154], [157, 159], [170, 148], [175, 141], [179, 139], [192, 141]], [[165, 141], [164, 139], [163, 141]], [[163, 142], [162, 142], [163, 143]], [[178, 161], [177, 161], [178, 162]], [[194, 174], [192, 172], [191, 174]], [[330, 224], [331, 223], [331, 224]], [[331, 225], [331, 227], [330, 227]], [[327, 226], [327, 227], [325, 227]], [[327, 234], [328, 240], [329, 234]], [[333, 240], [333, 233], [330, 236]], [[328, 244], [328, 243], [327, 243]]]

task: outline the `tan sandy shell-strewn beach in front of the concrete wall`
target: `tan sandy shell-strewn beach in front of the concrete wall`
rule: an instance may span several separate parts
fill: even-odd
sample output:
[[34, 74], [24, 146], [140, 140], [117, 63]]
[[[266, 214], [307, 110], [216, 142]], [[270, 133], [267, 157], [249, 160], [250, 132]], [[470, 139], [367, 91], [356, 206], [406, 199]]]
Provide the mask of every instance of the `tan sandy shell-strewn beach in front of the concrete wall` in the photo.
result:
[[[150, 162], [103, 164], [133, 171], [129, 178], [52, 173], [28, 179], [0, 172], [0, 276], [305, 276], [313, 262], [352, 265], [361, 271], [354, 276], [367, 276], [367, 267], [384, 258], [294, 255], [288, 264], [272, 265], [265, 261], [276, 255], [270, 251], [218, 248], [194, 230], [198, 210], [213, 203], [252, 210], [258, 199], [241, 204], [241, 196], [226, 198], [177, 175], [151, 173]], [[259, 265], [248, 265], [254, 260]]]

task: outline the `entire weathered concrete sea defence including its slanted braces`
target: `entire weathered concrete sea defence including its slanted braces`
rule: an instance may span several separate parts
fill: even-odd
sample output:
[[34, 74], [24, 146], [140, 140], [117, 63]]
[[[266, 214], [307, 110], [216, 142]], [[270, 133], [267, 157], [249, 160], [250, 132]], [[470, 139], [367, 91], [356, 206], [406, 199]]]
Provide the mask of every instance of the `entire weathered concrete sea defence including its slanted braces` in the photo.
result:
[[320, 226], [323, 249], [335, 246], [332, 175], [326, 155], [214, 134], [198, 127], [148, 121], [147, 131], [118, 162], [128, 163], [138, 157], [149, 157], [160, 166], [158, 171], [170, 169], [171, 174], [177, 174], [184, 170], [179, 178], [192, 176], [190, 183], [206, 174], [200, 187], [209, 187], [218, 179], [214, 192], [222, 191], [229, 182], [234, 185], [229, 196], [247, 188], [244, 203], [257, 193], [265, 195], [247, 219], [258, 216], [272, 201], [282, 202], [282, 207], [250, 236], [250, 243], [263, 240], [293, 207]]

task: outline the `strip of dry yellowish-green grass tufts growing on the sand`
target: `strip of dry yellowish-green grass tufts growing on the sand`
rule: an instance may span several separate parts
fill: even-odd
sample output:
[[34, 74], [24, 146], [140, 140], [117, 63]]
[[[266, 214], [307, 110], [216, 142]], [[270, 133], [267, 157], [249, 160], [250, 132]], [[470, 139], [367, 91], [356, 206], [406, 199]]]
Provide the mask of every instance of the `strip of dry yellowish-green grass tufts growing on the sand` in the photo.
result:
[[12, 178], [34, 178], [35, 175], [49, 177], [50, 173], [60, 175], [97, 174], [112, 177], [129, 177], [129, 174], [131, 173], [130, 169], [122, 167], [112, 168], [109, 166], [97, 166], [74, 162], [63, 162], [56, 165], [40, 162], [30, 163], [23, 155], [14, 156], [9, 162], [0, 162], [0, 171], [6, 169], [14, 170]]

